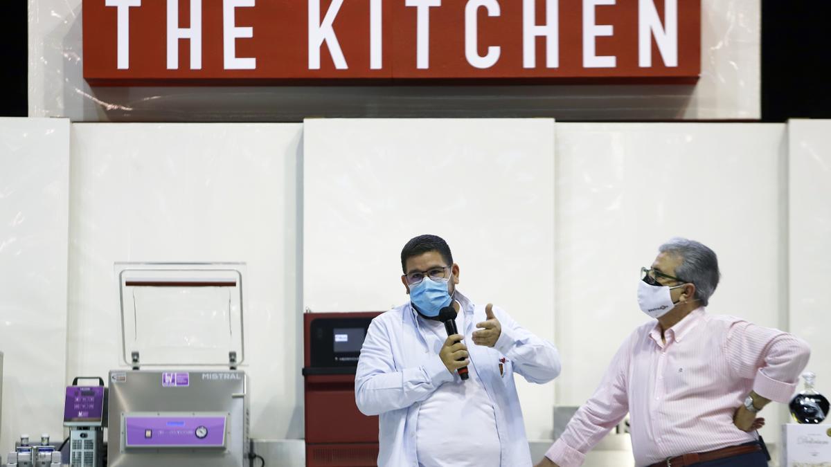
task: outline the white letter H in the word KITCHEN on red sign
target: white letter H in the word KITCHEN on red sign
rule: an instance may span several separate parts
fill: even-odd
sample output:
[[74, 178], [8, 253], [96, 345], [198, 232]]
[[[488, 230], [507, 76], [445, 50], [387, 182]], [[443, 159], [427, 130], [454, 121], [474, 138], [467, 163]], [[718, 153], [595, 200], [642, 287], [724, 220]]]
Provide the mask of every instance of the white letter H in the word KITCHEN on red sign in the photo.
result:
[[545, 0], [544, 26], [537, 26], [537, 7], [534, 0], [524, 0], [522, 12], [523, 54], [525, 68], [537, 67], [537, 37], [545, 36], [545, 66], [560, 66], [559, 0]]

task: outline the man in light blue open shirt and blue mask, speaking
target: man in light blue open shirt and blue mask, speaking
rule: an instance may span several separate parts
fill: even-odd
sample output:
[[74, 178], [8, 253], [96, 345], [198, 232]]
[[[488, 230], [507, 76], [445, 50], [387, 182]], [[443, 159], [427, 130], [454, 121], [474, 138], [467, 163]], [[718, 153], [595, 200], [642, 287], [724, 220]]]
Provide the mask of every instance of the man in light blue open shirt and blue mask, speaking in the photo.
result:
[[[532, 465], [514, 372], [553, 380], [557, 349], [504, 310], [459, 292], [460, 268], [442, 238], [412, 238], [401, 268], [410, 300], [372, 320], [355, 377], [358, 409], [381, 415], [378, 465]], [[459, 334], [448, 336], [439, 320], [447, 307]]]

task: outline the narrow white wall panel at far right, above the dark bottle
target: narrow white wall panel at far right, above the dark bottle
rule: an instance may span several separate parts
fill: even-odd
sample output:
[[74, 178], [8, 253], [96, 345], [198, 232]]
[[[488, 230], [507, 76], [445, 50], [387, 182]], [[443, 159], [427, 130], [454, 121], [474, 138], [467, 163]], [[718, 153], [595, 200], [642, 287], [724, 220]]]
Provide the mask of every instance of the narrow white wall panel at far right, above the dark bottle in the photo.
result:
[[810, 344], [808, 369], [817, 374], [817, 389], [829, 396], [831, 120], [790, 120], [788, 141], [790, 329]]

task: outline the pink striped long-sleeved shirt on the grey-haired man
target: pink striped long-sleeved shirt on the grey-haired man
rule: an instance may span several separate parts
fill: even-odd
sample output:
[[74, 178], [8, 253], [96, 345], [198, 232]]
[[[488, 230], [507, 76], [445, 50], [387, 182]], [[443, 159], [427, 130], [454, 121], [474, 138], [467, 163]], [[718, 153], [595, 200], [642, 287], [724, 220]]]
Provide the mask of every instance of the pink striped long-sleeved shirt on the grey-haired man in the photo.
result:
[[666, 330], [638, 327], [612, 359], [597, 391], [546, 456], [561, 467], [583, 464], [588, 450], [629, 412], [638, 466], [756, 439], [733, 425], [750, 391], [788, 402], [808, 364], [809, 347], [787, 332], [703, 307]]

